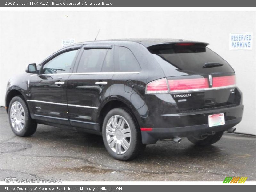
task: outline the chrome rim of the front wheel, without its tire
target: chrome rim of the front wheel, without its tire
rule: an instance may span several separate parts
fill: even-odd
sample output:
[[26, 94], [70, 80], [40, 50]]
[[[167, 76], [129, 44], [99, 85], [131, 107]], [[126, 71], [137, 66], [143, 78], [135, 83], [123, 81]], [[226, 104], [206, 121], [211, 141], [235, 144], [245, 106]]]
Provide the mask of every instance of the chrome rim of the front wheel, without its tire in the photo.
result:
[[12, 103], [10, 109], [10, 120], [15, 131], [22, 131], [25, 124], [25, 113], [22, 105], [18, 101]]

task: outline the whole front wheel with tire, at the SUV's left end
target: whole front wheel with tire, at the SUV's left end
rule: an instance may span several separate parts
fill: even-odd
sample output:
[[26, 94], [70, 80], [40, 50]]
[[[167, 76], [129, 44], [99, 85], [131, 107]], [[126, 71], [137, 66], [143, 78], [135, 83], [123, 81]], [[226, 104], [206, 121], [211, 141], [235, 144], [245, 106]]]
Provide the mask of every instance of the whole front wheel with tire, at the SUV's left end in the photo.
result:
[[15, 135], [30, 136], [35, 133], [37, 123], [31, 119], [28, 106], [20, 97], [13, 97], [8, 109], [9, 123]]

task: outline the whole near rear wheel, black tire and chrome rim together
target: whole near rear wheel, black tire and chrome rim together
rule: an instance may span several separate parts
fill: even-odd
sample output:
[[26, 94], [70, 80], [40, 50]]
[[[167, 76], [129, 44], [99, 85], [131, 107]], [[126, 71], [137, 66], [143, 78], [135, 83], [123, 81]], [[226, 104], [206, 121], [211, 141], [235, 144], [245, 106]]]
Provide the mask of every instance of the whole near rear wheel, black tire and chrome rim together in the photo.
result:
[[115, 159], [126, 161], [138, 156], [146, 147], [132, 114], [125, 108], [114, 108], [104, 118], [103, 142]]

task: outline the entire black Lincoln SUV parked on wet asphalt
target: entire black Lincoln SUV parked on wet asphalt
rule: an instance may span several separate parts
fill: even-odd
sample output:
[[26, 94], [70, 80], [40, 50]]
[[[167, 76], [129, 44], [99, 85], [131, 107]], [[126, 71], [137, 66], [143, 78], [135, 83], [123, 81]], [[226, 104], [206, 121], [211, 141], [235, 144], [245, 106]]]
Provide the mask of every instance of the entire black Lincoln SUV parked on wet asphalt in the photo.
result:
[[29, 136], [39, 123], [100, 134], [119, 160], [159, 139], [213, 144], [235, 130], [243, 105], [233, 68], [207, 45], [119, 39], [65, 47], [9, 80], [12, 131]]

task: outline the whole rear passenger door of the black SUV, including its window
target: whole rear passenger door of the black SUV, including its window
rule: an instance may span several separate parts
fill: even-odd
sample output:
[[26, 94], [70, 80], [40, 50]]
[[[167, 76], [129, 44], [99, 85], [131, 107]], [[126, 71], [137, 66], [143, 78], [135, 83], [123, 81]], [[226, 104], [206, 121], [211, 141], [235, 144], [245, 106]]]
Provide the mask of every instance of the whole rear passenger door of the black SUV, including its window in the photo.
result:
[[68, 78], [70, 124], [98, 130], [97, 112], [110, 94], [114, 65], [112, 44], [84, 45], [75, 71]]

